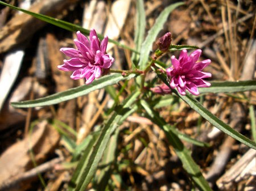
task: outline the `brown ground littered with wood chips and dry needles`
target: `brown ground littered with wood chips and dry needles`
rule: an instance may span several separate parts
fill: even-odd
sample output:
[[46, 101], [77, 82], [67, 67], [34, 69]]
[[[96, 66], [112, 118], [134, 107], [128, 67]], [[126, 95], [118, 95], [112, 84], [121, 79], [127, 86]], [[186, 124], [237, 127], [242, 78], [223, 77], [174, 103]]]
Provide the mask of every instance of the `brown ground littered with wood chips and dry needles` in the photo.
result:
[[[79, 24], [110, 39], [135, 47], [136, 1], [36, 0], [6, 1]], [[25, 2], [31, 2], [31, 5]], [[146, 31], [161, 11], [176, 1], [144, 1]], [[254, 1], [196, 0], [171, 12], [159, 37], [172, 33], [172, 44], [196, 45], [209, 81], [255, 80], [256, 4]], [[27, 6], [27, 8], [26, 8]], [[0, 190], [65, 190], [77, 165], [72, 144], [79, 145], [105, 119], [113, 99], [106, 90], [57, 105], [14, 108], [13, 101], [31, 100], [84, 84], [60, 71], [66, 58], [61, 47], [72, 47], [75, 32], [0, 6]], [[131, 52], [109, 44], [114, 68], [131, 68]], [[156, 49], [156, 45], [153, 45]], [[171, 63], [170, 54], [162, 61]], [[121, 82], [123, 84], [125, 82]], [[127, 83], [131, 86], [132, 82]], [[116, 85], [118, 88], [118, 85]], [[129, 93], [129, 92], [128, 92]], [[198, 97], [210, 112], [253, 139], [256, 92], [204, 94]], [[256, 190], [256, 152], [214, 128], [181, 100], [158, 111], [189, 137], [185, 142], [213, 190]], [[109, 190], [192, 190], [174, 149], [158, 126], [133, 115], [118, 128], [115, 163]], [[98, 170], [100, 171], [100, 169]], [[109, 184], [110, 184], [109, 183]], [[88, 186], [94, 188], [95, 182]], [[101, 189], [98, 189], [101, 190]]]

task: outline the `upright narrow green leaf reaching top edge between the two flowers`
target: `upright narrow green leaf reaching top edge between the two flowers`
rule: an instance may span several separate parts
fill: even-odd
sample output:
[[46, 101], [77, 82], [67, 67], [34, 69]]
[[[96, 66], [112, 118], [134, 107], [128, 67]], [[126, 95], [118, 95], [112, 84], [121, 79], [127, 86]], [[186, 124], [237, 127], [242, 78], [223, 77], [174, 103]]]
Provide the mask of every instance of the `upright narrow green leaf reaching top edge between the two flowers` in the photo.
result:
[[[144, 33], [146, 28], [146, 14], [144, 10], [143, 0], [136, 1], [136, 28], [135, 28], [135, 39], [134, 43], [136, 45], [137, 52], [141, 51], [141, 45], [144, 40]], [[135, 66], [138, 64], [139, 56], [133, 53], [131, 60], [134, 62]]]

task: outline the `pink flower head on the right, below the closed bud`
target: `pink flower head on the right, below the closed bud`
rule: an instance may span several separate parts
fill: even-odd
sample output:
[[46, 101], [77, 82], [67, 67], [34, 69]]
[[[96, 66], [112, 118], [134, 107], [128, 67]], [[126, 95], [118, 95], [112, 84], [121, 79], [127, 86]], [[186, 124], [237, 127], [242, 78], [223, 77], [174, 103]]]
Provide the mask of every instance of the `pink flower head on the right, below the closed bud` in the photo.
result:
[[166, 69], [166, 73], [170, 78], [171, 88], [177, 88], [181, 95], [185, 95], [186, 89], [193, 95], [199, 95], [197, 87], [210, 86], [203, 78], [212, 77], [212, 74], [201, 71], [210, 64], [210, 60], [196, 62], [201, 52], [202, 50], [197, 49], [188, 56], [187, 50], [182, 50], [179, 60], [175, 56], [171, 57], [172, 67]]

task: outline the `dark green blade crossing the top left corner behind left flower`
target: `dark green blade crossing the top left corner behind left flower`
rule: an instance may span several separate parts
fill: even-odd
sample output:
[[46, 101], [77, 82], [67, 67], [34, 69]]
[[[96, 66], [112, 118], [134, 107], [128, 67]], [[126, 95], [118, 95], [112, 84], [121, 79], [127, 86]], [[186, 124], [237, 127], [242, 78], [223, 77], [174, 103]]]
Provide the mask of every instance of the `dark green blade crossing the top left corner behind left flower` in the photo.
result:
[[[24, 9], [20, 9], [19, 7], [9, 5], [8, 3], [5, 3], [3, 1], [0, 1], [0, 5], [10, 7], [11, 9], [14, 9], [14, 10], [17, 10], [17, 11], [22, 11], [22, 12], [28, 14], [28, 15], [34, 16], [37, 19], [43, 20], [44, 22], [53, 24], [53, 25], [55, 25], [57, 27], [60, 27], [60, 28], [64, 28], [68, 31], [81, 31], [85, 35], [89, 35], [89, 33], [90, 33], [90, 31], [88, 29], [82, 28], [82, 27], [80, 27], [76, 24], [65, 22], [64, 20], [60, 20], [60, 19], [55, 19], [55, 18], [52, 18], [51, 16], [46, 16], [46, 15], [38, 14], [38, 13], [35, 13], [35, 12], [27, 11], [27, 10], [24, 10]], [[101, 34], [97, 34], [97, 35], [100, 39], [104, 38], [104, 36], [102, 36]], [[124, 49], [129, 49], [132, 52], [135, 52], [135, 53], [138, 54], [138, 52], [136, 50], [130, 48], [129, 46], [123, 45], [123, 44], [119, 43], [118, 41], [109, 39], [109, 42], [113, 43], [113, 44], [115, 44], [119, 47], [122, 47]]]

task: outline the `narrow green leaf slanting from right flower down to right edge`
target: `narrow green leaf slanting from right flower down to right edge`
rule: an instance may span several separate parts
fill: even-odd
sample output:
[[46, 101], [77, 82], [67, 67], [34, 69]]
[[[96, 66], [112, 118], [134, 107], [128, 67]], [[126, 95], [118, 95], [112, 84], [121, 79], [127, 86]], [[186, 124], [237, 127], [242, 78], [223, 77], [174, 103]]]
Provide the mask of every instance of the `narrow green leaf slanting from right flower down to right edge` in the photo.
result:
[[218, 117], [214, 116], [214, 114], [210, 113], [206, 108], [203, 107], [195, 98], [191, 95], [181, 96], [174, 90], [175, 94], [178, 95], [181, 99], [183, 99], [192, 109], [198, 112], [202, 117], [204, 117], [207, 121], [210, 122], [213, 126], [220, 129], [224, 133], [228, 134], [230, 137], [233, 137], [237, 141], [254, 148], [256, 150], [256, 142], [251, 141], [249, 138], [245, 137], [241, 133], [237, 132], [229, 125], [225, 124], [225, 122], [221, 121]]

